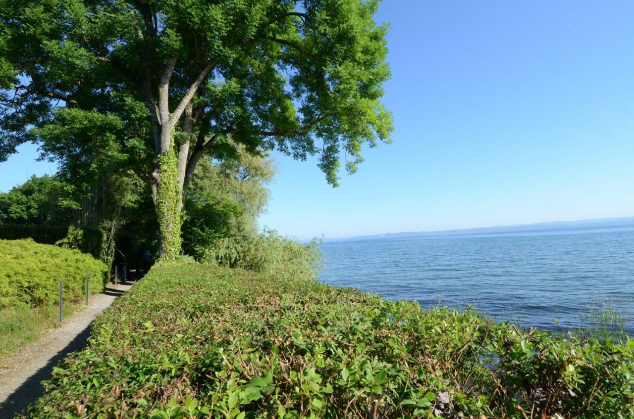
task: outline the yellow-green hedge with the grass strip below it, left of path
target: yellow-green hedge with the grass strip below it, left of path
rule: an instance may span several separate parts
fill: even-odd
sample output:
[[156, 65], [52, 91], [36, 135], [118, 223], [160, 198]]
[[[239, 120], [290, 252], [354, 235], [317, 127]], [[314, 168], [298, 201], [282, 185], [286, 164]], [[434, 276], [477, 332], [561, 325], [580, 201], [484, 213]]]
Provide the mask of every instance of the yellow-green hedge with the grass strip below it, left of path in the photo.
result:
[[58, 322], [58, 281], [63, 282], [64, 316], [80, 307], [86, 273], [91, 293], [103, 290], [106, 265], [89, 254], [37, 244], [0, 240], [0, 357], [36, 340]]

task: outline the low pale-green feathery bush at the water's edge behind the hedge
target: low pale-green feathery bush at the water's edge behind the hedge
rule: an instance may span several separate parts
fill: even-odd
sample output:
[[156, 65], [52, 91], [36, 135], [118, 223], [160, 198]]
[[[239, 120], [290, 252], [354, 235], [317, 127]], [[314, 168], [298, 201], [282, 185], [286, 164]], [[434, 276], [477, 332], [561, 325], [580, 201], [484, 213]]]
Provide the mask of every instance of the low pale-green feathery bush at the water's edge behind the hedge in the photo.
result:
[[275, 230], [245, 237], [224, 237], [206, 249], [203, 261], [280, 278], [314, 279], [321, 266], [320, 241], [300, 244]]

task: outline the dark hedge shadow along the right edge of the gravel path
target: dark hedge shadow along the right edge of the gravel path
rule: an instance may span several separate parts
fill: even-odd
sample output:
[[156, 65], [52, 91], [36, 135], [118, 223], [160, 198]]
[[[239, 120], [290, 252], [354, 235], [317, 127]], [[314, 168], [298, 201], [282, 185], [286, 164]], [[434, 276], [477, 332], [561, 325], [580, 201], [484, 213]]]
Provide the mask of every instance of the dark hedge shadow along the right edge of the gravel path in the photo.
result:
[[86, 340], [90, 335], [91, 324], [84, 328], [80, 334], [75, 336], [75, 339], [61, 349], [48, 363], [36, 373], [31, 375], [16, 391], [10, 394], [10, 396], [0, 404], [0, 419], [15, 418], [16, 415], [22, 413], [22, 411], [42, 396], [44, 392], [44, 386], [41, 382], [43, 380], [49, 380], [51, 378], [51, 372], [53, 372], [53, 366], [57, 366], [61, 360], [63, 360], [69, 353], [74, 351], [81, 351], [86, 345]]

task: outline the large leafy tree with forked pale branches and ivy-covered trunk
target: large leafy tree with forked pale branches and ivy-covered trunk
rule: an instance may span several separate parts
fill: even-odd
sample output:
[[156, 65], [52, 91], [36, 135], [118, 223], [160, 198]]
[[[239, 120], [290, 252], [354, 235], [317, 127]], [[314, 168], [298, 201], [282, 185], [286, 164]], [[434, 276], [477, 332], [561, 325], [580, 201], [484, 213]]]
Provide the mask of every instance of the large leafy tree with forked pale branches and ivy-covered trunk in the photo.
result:
[[35, 141], [84, 176], [86, 161], [133, 170], [152, 189], [161, 253], [174, 258], [205, 154], [232, 143], [318, 154], [336, 185], [343, 154], [354, 172], [363, 143], [389, 141], [377, 4], [3, 0], [0, 159]]

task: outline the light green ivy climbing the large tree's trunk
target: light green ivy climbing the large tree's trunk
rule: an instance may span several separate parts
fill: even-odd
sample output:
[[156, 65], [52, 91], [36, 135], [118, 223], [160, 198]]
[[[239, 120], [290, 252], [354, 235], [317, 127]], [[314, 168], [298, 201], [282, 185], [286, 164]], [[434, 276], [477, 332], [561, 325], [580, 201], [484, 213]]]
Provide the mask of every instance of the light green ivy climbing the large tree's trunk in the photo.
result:
[[160, 238], [166, 260], [176, 260], [181, 254], [181, 187], [178, 184], [178, 158], [170, 147], [167, 153], [159, 156], [160, 182], [157, 194], [157, 219], [160, 226]]

